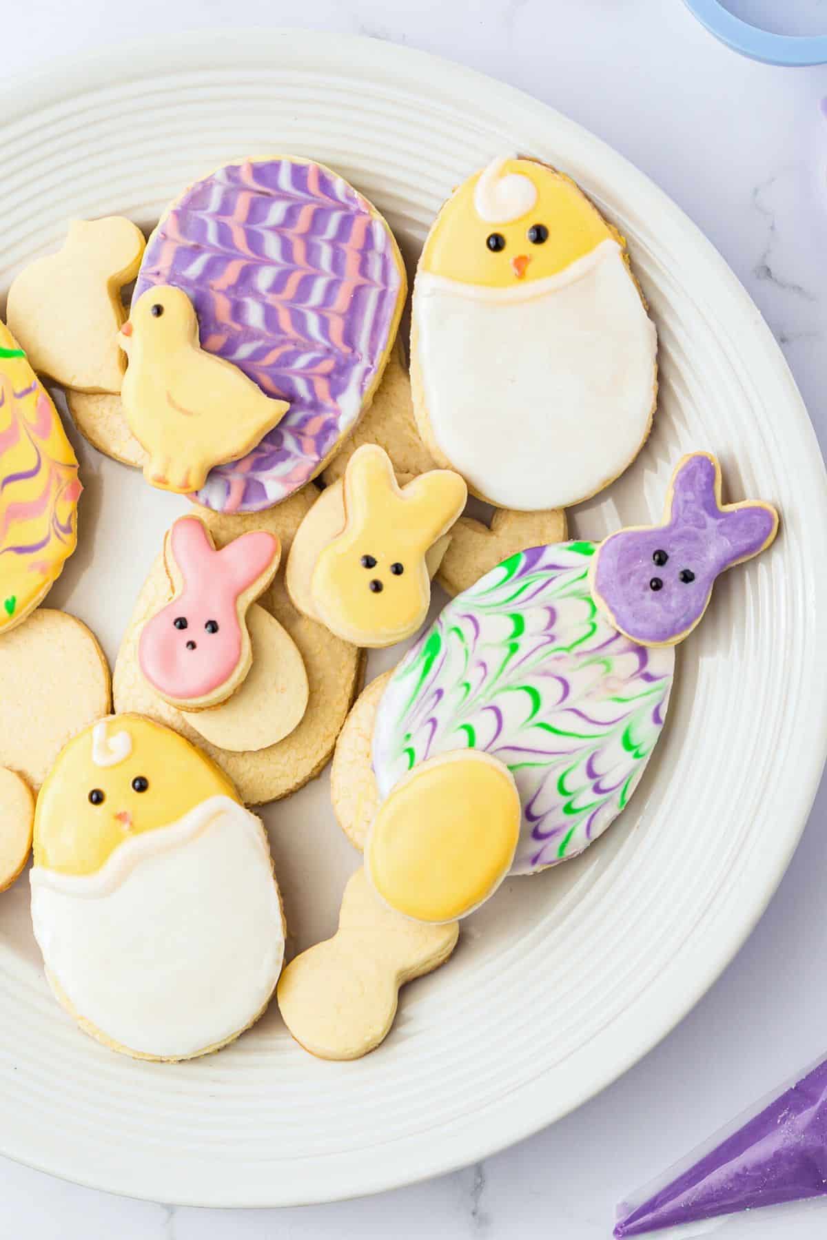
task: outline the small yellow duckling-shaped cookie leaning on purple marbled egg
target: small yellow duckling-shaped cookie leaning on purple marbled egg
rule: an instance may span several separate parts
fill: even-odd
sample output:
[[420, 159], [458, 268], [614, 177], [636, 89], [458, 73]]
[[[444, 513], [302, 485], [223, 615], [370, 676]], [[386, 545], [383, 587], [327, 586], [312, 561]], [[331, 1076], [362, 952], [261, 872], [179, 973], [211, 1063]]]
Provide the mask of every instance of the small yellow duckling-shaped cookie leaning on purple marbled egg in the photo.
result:
[[198, 320], [186, 293], [148, 289], [120, 329], [129, 357], [122, 398], [129, 429], [149, 454], [144, 477], [186, 495], [213, 465], [237, 460], [286, 413], [237, 366], [198, 343]]

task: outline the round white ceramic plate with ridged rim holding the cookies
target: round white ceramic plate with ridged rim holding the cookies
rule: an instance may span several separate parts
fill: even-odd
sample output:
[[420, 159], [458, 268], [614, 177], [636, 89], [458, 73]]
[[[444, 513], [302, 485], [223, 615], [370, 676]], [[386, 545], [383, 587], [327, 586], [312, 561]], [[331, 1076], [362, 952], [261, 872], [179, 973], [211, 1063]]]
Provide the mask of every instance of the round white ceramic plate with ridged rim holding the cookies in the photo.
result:
[[[275, 1008], [217, 1056], [170, 1066], [112, 1054], [47, 991], [27, 882], [0, 900], [5, 1154], [135, 1197], [279, 1205], [404, 1184], [527, 1136], [629, 1068], [703, 994], [765, 908], [815, 794], [827, 730], [815, 675], [825, 472], [779, 348], [646, 177], [549, 108], [420, 53], [224, 31], [61, 63], [5, 89], [0, 117], [0, 309], [16, 269], [58, 246], [67, 217], [150, 226], [233, 156], [331, 164], [387, 215], [409, 260], [451, 186], [492, 155], [559, 165], [627, 236], [662, 367], [646, 450], [573, 513], [575, 533], [657, 515], [672, 464], [693, 448], [719, 454], [730, 496], [780, 506], [775, 547], [719, 583], [678, 651], [668, 724], [626, 813], [579, 861], [507, 883], [465, 924], [450, 963], [403, 992], [391, 1037], [366, 1059], [312, 1059]], [[112, 660], [181, 501], [84, 444], [81, 454], [81, 546], [50, 604], [92, 625]], [[332, 932], [357, 857], [326, 773], [265, 816], [303, 947]]]

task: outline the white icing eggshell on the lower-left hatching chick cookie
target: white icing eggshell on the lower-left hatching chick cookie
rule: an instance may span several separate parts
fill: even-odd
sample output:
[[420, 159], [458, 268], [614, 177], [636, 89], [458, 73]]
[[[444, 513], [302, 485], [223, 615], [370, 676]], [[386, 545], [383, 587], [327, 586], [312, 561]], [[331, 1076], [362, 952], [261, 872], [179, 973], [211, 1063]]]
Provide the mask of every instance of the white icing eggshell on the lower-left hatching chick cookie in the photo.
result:
[[267, 1004], [284, 928], [259, 820], [213, 796], [120, 844], [94, 874], [31, 872], [46, 970], [74, 1012], [129, 1050], [180, 1058]]

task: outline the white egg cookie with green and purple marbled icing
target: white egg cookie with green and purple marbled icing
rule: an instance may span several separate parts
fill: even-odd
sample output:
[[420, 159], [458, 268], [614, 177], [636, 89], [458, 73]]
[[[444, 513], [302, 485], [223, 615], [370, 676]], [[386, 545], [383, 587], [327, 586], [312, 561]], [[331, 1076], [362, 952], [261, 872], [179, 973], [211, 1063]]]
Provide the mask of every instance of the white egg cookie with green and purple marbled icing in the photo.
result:
[[533, 547], [444, 609], [391, 677], [373, 733], [386, 799], [414, 766], [481, 749], [522, 801], [512, 874], [577, 856], [634, 792], [663, 727], [674, 651], [617, 632], [589, 589], [590, 542]]

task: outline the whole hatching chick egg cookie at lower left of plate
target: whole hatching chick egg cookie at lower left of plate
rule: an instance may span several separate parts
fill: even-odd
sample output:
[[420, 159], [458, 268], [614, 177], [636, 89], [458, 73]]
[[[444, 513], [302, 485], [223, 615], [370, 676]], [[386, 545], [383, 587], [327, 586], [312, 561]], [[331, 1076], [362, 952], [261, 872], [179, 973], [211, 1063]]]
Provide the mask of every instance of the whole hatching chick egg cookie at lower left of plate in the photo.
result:
[[140, 715], [97, 723], [60, 754], [37, 799], [31, 894], [57, 998], [136, 1058], [232, 1042], [281, 972], [262, 823], [200, 749]]

